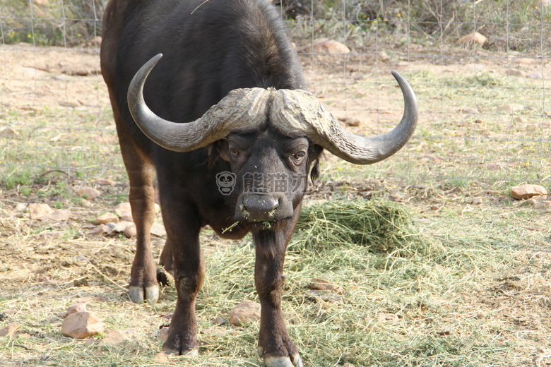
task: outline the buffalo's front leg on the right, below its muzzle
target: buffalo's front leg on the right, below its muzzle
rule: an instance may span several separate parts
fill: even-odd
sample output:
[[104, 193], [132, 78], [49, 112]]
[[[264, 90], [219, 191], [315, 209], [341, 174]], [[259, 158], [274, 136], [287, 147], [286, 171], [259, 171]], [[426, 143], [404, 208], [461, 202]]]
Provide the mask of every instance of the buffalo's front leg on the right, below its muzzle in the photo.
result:
[[274, 231], [260, 231], [253, 234], [253, 238], [256, 248], [254, 282], [261, 303], [259, 356], [266, 367], [302, 367], [281, 311], [287, 241], [283, 233]]

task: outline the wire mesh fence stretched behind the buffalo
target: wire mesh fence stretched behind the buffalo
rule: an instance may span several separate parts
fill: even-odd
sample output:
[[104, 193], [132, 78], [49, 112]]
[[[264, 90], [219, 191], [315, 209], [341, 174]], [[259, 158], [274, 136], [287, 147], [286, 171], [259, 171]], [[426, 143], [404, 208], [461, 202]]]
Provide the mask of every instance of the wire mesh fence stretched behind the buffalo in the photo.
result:
[[[398, 123], [402, 100], [391, 70], [417, 93], [419, 126], [401, 152], [372, 167], [327, 157], [324, 177], [550, 186], [549, 3], [422, 3], [277, 4], [309, 89], [350, 131], [374, 135]], [[124, 176], [100, 75], [105, 5], [1, 2], [4, 186], [52, 171], [82, 179]]]

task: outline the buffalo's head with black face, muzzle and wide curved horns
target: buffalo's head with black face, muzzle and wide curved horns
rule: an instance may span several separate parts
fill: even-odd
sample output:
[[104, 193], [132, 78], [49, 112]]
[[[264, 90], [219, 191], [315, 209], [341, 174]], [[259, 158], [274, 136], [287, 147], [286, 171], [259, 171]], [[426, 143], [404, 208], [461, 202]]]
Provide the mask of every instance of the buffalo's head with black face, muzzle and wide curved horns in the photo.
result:
[[395, 71], [405, 108], [400, 124], [382, 136], [362, 137], [346, 131], [304, 90], [232, 90], [196, 121], [166, 121], [143, 100], [143, 85], [161, 57], [158, 54], [143, 65], [130, 84], [129, 109], [136, 124], [168, 150], [189, 152], [216, 143], [235, 174], [235, 219], [248, 222], [251, 229], [294, 216], [309, 169], [323, 148], [355, 164], [379, 162], [400, 150], [417, 124], [415, 94]]

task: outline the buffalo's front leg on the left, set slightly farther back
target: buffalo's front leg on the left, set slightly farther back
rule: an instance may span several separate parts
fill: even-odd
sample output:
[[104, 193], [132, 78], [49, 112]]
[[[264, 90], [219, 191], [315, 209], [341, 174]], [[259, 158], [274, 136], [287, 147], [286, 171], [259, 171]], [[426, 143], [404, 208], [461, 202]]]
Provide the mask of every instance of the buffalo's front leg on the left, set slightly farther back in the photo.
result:
[[170, 244], [167, 248], [170, 253], [165, 255], [172, 258], [172, 274], [178, 293], [167, 341], [162, 349], [169, 354], [196, 356], [199, 344], [195, 301], [205, 277], [205, 260], [199, 246], [201, 224], [194, 210], [186, 209], [175, 200], [162, 200], [161, 196], [161, 207], [167, 244]]

